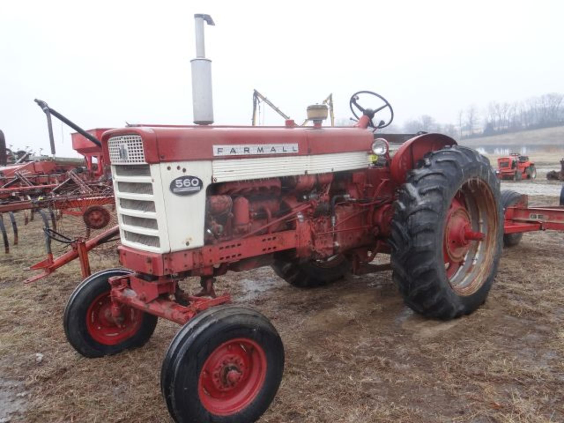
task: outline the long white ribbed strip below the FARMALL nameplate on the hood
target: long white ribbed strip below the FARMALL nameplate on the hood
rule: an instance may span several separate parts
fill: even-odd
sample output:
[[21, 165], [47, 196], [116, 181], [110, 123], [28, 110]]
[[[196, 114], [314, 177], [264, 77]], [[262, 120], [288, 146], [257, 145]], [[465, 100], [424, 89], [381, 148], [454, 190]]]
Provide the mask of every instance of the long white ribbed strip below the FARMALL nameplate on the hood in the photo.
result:
[[315, 156], [237, 158], [212, 162], [214, 182], [338, 172], [364, 169], [368, 165], [369, 156], [366, 151]]

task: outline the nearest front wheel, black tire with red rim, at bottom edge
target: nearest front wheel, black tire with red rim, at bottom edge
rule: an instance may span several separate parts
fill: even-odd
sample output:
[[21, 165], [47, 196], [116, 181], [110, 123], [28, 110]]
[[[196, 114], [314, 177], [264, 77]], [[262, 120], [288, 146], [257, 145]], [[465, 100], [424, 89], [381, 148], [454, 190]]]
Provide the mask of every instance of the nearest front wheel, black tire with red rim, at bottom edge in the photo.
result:
[[284, 346], [265, 316], [214, 307], [170, 343], [161, 390], [178, 423], [253, 422], [270, 406], [283, 372]]

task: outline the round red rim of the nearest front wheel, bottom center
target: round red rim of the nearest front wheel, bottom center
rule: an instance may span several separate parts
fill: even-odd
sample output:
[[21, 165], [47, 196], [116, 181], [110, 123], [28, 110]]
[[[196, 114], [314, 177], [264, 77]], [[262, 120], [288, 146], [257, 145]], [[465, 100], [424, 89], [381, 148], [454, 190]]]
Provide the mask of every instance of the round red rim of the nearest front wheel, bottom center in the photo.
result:
[[235, 414], [253, 402], [265, 378], [266, 354], [258, 343], [248, 338], [224, 342], [200, 372], [200, 402], [213, 415]]

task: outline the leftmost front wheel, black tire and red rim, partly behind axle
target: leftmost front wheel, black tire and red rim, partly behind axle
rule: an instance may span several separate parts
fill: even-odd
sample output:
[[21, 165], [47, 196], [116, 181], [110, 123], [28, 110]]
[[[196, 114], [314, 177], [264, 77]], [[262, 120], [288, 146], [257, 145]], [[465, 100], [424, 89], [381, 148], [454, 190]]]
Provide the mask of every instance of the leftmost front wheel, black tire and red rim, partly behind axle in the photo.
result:
[[126, 305], [121, 305], [119, 325], [111, 317], [108, 279], [129, 274], [131, 271], [119, 268], [96, 272], [70, 296], [63, 326], [68, 342], [83, 356], [96, 358], [141, 347], [155, 331], [157, 316]]

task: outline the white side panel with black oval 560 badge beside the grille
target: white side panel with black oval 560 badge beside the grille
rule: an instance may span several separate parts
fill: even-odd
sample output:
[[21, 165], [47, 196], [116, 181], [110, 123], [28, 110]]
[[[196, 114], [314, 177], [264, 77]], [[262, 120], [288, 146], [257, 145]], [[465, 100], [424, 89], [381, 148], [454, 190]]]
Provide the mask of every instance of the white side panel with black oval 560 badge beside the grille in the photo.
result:
[[[203, 246], [206, 188], [211, 181], [211, 161], [165, 162], [155, 166], [160, 167], [161, 180], [158, 186], [162, 190], [161, 199], [164, 199], [165, 219], [159, 219], [159, 222], [166, 220], [169, 251]], [[173, 194], [170, 183], [175, 178], [186, 175], [200, 178], [204, 183], [202, 190], [186, 196]]]

